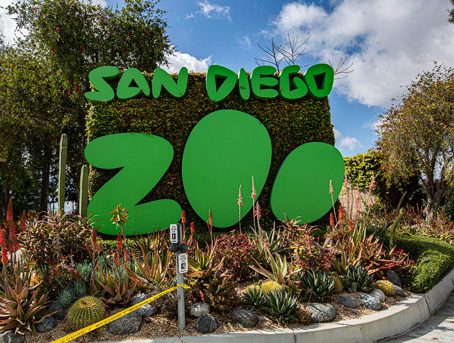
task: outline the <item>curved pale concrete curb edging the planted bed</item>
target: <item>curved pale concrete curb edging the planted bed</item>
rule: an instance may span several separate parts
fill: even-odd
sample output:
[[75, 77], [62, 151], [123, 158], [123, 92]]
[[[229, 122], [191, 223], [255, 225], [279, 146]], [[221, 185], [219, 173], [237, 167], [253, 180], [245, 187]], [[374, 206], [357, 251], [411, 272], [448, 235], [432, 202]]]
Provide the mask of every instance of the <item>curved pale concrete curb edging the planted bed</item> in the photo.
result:
[[171, 338], [122, 340], [100, 343], [376, 343], [404, 334], [421, 324], [444, 304], [454, 290], [452, 265], [425, 294], [405, 298], [399, 305], [365, 317], [336, 323], [316, 324], [300, 329], [274, 329], [205, 334]]

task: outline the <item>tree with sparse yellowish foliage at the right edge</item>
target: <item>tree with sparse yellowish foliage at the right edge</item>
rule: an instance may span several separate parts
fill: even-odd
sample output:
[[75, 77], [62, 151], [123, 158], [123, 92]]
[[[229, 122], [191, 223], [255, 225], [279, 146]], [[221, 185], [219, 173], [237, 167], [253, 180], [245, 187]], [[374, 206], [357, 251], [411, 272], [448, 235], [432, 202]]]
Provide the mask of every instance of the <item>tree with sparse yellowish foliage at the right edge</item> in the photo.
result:
[[389, 179], [417, 175], [432, 217], [454, 181], [454, 71], [438, 65], [412, 80], [402, 103], [379, 116], [376, 142]]

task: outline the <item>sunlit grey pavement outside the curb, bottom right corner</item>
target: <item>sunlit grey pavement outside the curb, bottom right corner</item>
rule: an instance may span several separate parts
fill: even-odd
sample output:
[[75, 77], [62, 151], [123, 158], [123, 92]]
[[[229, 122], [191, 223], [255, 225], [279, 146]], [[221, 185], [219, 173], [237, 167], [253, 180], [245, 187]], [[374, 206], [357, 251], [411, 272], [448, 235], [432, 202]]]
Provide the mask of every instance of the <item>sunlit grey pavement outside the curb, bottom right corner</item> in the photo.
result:
[[454, 342], [454, 293], [451, 293], [446, 303], [429, 319], [405, 335], [382, 341], [389, 343], [428, 343]]

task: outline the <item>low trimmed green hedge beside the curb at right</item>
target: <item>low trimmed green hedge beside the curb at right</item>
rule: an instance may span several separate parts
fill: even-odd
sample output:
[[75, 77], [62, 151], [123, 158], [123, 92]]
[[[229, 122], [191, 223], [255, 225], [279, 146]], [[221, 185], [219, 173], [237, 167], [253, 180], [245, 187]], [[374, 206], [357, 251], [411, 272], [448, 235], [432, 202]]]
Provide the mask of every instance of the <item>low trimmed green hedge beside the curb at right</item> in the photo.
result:
[[409, 278], [409, 291], [429, 291], [452, 263], [454, 247], [434, 238], [398, 235], [397, 246], [416, 262]]

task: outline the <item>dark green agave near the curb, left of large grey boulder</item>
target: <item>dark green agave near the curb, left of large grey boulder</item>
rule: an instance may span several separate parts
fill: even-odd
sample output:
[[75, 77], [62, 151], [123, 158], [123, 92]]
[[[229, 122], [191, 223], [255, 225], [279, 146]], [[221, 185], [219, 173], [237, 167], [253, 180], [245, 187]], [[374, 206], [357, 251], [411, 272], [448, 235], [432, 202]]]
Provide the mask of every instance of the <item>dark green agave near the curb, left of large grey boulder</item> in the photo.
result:
[[265, 295], [263, 309], [277, 321], [297, 320], [298, 301], [291, 292], [275, 290]]

